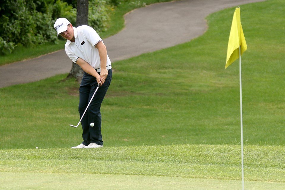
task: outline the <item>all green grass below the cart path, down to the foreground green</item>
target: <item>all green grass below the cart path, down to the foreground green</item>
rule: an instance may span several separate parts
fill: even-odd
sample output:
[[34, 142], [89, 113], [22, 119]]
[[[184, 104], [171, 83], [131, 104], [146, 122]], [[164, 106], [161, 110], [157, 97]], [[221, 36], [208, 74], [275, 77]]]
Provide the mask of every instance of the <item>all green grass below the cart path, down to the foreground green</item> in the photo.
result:
[[[113, 63], [104, 148], [81, 142], [78, 84], [58, 75], [0, 89], [0, 189], [241, 189], [235, 7], [175, 47]], [[241, 6], [245, 189], [285, 189], [284, 2]], [[35, 147], [39, 149], [35, 149]]]

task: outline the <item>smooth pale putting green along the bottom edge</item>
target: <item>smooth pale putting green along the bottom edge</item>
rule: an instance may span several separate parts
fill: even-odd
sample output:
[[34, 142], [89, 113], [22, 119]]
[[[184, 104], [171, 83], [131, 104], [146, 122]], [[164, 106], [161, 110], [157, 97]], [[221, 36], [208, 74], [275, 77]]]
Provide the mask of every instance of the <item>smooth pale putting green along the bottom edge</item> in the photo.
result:
[[[241, 181], [193, 179], [181, 177], [114, 175], [114, 174], [58, 174], [0, 172], [0, 189], [187, 189], [187, 190], [239, 190]], [[246, 190], [285, 189], [285, 183], [245, 181]]]

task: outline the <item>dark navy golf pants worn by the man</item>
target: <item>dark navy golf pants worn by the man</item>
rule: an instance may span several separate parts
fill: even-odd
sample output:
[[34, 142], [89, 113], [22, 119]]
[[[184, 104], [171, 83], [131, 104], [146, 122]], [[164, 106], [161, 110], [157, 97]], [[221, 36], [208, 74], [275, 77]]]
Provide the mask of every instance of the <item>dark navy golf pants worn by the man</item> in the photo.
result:
[[[100, 73], [99, 73], [100, 75]], [[100, 86], [90, 103], [86, 113], [84, 114], [81, 125], [83, 129], [82, 138], [83, 145], [89, 145], [90, 143], [96, 143], [97, 145], [103, 145], [101, 134], [101, 113], [100, 108], [105, 97], [105, 94], [110, 86], [112, 80], [112, 69], [108, 70], [108, 76], [105, 83]], [[79, 106], [78, 111], [80, 118], [82, 117], [91, 97], [93, 96], [98, 83], [96, 78], [88, 73], [84, 72], [82, 81], [79, 87]], [[91, 127], [90, 124], [94, 123]]]

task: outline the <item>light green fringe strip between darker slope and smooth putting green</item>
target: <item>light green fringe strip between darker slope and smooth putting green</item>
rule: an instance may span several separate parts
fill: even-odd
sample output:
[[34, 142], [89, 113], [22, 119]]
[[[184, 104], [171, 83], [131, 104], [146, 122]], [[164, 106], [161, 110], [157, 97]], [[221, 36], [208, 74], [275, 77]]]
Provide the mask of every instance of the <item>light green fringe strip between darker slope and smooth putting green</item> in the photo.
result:
[[[283, 146], [245, 146], [246, 180], [285, 182], [284, 151]], [[0, 172], [241, 177], [239, 145], [10, 149], [0, 150], [0, 159]]]

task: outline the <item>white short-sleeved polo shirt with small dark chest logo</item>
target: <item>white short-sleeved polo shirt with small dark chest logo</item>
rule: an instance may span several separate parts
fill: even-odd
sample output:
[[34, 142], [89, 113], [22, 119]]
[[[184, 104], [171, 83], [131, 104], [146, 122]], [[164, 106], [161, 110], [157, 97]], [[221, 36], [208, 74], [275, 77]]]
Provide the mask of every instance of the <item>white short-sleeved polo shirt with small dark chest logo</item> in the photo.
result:
[[[74, 62], [78, 58], [83, 59], [88, 64], [90, 64], [94, 69], [99, 69], [101, 67], [101, 61], [99, 56], [99, 51], [95, 47], [96, 44], [102, 39], [97, 34], [97, 32], [87, 25], [82, 25], [73, 27], [75, 42], [67, 40], [65, 44], [65, 52], [67, 56]], [[107, 65], [111, 65], [109, 56], [107, 55]]]

